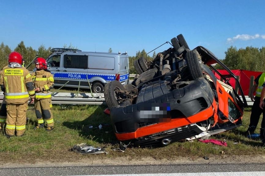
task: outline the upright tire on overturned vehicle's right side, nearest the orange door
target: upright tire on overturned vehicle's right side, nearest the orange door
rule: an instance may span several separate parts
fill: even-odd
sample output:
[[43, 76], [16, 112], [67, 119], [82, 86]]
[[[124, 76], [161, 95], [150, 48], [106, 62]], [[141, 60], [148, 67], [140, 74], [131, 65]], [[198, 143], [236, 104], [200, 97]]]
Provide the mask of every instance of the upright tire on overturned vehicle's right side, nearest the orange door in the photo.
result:
[[199, 62], [199, 53], [197, 50], [189, 50], [185, 54], [188, 70], [192, 77], [192, 80], [196, 80], [199, 77], [203, 77], [203, 72]]

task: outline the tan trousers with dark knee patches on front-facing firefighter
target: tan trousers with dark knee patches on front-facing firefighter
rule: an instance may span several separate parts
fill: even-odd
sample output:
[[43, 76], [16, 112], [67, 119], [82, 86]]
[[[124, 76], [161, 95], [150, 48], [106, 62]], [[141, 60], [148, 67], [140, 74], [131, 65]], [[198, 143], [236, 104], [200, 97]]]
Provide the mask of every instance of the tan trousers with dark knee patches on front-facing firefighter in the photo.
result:
[[35, 99], [34, 105], [35, 105], [35, 114], [38, 120], [38, 124], [43, 124], [45, 120], [47, 127], [53, 127], [54, 121], [51, 112], [52, 109], [51, 99], [40, 99], [40, 100]]

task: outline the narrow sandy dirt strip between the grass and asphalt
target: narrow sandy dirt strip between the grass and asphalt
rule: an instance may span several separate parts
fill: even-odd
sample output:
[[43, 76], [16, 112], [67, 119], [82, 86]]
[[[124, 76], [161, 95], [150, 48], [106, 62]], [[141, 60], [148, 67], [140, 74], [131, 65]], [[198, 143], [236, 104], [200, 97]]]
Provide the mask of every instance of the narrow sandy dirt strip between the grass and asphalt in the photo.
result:
[[155, 160], [151, 157], [144, 158], [100, 158], [88, 156], [76, 161], [60, 162], [58, 160], [47, 160], [25, 163], [1, 163], [2, 168], [13, 167], [54, 167], [55, 163], [57, 167], [67, 166], [98, 166], [98, 165], [150, 165], [150, 164], [217, 164], [217, 163], [265, 163], [265, 155], [257, 156], [207, 156], [209, 159], [205, 160], [203, 157], [178, 157], [174, 159], [161, 159]]

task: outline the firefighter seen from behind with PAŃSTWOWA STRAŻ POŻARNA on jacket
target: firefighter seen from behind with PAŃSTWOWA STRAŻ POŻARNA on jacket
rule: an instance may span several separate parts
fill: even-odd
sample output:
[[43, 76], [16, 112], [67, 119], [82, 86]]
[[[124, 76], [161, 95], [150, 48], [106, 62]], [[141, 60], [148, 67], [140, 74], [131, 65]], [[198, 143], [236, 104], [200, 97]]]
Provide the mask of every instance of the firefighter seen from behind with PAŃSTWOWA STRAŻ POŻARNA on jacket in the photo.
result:
[[26, 129], [26, 111], [28, 100], [34, 102], [34, 86], [29, 71], [22, 67], [22, 56], [11, 52], [8, 67], [3, 68], [0, 86], [6, 98], [6, 137], [23, 136]]

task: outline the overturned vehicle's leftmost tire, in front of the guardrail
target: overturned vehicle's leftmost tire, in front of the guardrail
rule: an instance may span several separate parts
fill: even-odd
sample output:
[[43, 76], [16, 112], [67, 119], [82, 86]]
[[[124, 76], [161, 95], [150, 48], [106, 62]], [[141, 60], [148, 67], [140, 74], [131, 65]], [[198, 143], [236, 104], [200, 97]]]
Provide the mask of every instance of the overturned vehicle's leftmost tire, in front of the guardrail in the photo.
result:
[[104, 97], [105, 97], [106, 104], [109, 108], [112, 108], [114, 106], [118, 106], [119, 104], [121, 104], [121, 102], [118, 102], [117, 100], [119, 97], [119, 95], [117, 95], [115, 92], [117, 90], [125, 90], [123, 85], [117, 80], [110, 81], [105, 85]]

